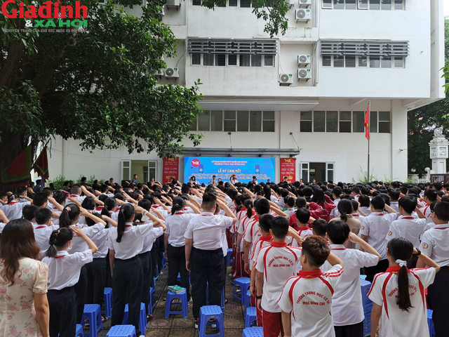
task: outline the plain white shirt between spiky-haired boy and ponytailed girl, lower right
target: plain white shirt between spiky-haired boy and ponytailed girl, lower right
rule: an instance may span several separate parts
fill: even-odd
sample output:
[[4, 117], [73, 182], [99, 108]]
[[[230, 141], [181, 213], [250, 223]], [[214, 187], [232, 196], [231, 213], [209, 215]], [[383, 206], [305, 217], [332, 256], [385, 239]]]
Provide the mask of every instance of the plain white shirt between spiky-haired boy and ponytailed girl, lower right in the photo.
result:
[[[377, 265], [379, 258], [357, 249], [347, 249], [343, 244], [331, 244], [330, 250], [344, 262], [340, 284], [334, 288], [332, 315], [335, 326], [358, 324], [363, 321], [362, 293], [360, 291], [360, 268]], [[326, 261], [321, 270], [332, 269]]]

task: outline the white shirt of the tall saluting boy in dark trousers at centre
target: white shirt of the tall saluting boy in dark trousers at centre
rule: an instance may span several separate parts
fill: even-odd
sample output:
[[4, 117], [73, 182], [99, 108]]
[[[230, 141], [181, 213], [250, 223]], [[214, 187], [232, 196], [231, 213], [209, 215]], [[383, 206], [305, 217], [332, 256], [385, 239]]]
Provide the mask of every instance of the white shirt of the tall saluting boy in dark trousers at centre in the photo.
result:
[[223, 248], [223, 228], [231, 227], [233, 221], [229, 216], [214, 216], [212, 212], [203, 212], [187, 225], [184, 237], [193, 239], [196, 249], [214, 251]]

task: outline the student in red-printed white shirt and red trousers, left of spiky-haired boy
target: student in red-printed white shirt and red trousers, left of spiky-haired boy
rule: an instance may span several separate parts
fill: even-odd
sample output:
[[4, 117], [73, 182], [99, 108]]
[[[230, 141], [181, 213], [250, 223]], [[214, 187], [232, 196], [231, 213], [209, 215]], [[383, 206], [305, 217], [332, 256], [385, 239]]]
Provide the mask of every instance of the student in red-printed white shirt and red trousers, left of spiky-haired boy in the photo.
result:
[[273, 242], [257, 255], [257, 308], [262, 311], [264, 337], [284, 336], [281, 308], [277, 300], [281, 296], [283, 282], [296, 274], [300, 263], [300, 249], [289, 247], [286, 236], [288, 220], [276, 216], [270, 221]]

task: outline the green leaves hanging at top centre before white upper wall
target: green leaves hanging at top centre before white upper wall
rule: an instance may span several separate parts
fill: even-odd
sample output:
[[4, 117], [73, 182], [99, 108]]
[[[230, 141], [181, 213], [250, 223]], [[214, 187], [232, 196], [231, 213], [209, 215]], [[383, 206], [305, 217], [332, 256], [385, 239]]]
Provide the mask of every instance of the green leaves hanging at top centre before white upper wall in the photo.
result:
[[[225, 5], [227, 0], [203, 0], [201, 5], [210, 9], [215, 6]], [[288, 4], [283, 0], [251, 0], [253, 13], [258, 19], [262, 18], [267, 23], [264, 32], [274, 37], [281, 33], [286, 34], [288, 28], [288, 20], [286, 14], [288, 12]]]

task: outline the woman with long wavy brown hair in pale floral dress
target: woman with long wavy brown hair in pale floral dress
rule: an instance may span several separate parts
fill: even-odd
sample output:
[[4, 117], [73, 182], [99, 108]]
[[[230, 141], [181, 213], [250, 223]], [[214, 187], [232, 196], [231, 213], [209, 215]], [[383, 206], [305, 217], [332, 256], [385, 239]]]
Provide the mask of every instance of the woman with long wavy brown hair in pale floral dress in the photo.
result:
[[28, 220], [10, 221], [0, 237], [0, 337], [48, 337], [48, 267]]

